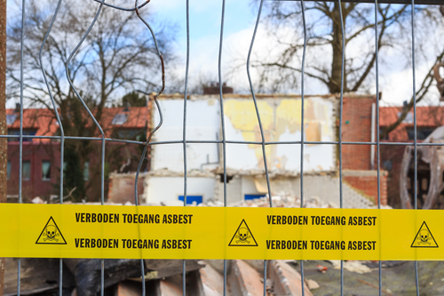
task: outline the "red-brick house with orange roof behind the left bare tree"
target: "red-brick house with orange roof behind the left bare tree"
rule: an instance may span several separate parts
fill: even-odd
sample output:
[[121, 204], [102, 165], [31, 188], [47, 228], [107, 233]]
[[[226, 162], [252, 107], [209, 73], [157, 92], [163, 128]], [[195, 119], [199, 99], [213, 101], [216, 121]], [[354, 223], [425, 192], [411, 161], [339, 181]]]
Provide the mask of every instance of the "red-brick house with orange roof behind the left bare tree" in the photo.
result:
[[[145, 139], [147, 132], [147, 108], [105, 108], [101, 120], [107, 138], [133, 140], [142, 134]], [[7, 195], [9, 199], [16, 199], [19, 194], [19, 156], [20, 142], [20, 106], [7, 109], [8, 135], [8, 164], [7, 164]], [[60, 143], [58, 139], [36, 139], [27, 136], [55, 136], [59, 135], [59, 124], [52, 110], [46, 108], [28, 108], [23, 110], [23, 164], [22, 164], [22, 196], [29, 201], [35, 196], [49, 200], [52, 195], [58, 196], [59, 189], [59, 157]], [[66, 134], [65, 136], [69, 136]], [[100, 146], [100, 142], [95, 143]], [[123, 159], [123, 163], [130, 156], [139, 157], [140, 145], [123, 145], [118, 142], [107, 142], [106, 151], [115, 151], [115, 159]], [[108, 160], [107, 160], [108, 162]], [[83, 180], [90, 200], [98, 200], [100, 187], [92, 186], [100, 182], [97, 172], [100, 169], [100, 154], [92, 153], [83, 164]], [[120, 165], [109, 164], [109, 171], [119, 170]], [[133, 164], [134, 165], [134, 164]], [[127, 168], [132, 170], [133, 168]], [[106, 180], [107, 182], [107, 180]], [[107, 188], [107, 186], [106, 186]]]

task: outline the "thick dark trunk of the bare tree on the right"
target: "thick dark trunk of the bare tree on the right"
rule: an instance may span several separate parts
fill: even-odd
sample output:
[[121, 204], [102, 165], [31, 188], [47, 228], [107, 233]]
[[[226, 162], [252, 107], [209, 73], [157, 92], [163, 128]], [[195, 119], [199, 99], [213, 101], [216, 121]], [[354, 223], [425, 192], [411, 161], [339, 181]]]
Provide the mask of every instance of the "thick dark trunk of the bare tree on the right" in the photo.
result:
[[[342, 4], [343, 12], [345, 10], [344, 4]], [[344, 16], [344, 14], [343, 14]], [[331, 45], [333, 48], [333, 60], [331, 61], [331, 76], [329, 79], [329, 92], [338, 93], [341, 92], [341, 68], [342, 68], [342, 28], [341, 28], [341, 16], [339, 13], [339, 4], [335, 2], [333, 12], [331, 12], [331, 20], [333, 21], [333, 32]], [[344, 27], [345, 27], [345, 18]], [[344, 91], [346, 91], [346, 79], [344, 74]]]

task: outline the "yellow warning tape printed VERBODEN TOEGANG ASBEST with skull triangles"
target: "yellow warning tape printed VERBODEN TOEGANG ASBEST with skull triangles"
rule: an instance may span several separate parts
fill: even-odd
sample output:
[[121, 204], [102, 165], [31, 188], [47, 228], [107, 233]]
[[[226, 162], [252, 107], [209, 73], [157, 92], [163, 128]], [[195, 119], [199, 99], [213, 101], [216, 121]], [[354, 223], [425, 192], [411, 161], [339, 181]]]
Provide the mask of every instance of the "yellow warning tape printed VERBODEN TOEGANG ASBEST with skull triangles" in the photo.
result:
[[444, 260], [442, 211], [0, 204], [0, 257]]

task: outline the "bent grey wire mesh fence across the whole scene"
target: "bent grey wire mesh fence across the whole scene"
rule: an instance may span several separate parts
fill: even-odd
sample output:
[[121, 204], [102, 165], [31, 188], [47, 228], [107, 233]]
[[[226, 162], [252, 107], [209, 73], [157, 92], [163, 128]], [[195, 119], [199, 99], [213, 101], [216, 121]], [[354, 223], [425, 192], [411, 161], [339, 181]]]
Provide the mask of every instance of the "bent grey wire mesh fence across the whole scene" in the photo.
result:
[[[39, 52], [39, 60], [40, 60], [40, 67], [42, 69], [42, 75], [44, 76], [44, 82], [47, 86], [48, 92], [49, 92], [49, 96], [50, 99], [52, 101], [52, 108], [54, 108], [55, 110], [55, 116], [57, 117], [57, 122], [59, 124], [59, 130], [60, 130], [60, 135], [59, 136], [28, 136], [26, 135], [26, 138], [29, 139], [57, 139], [60, 140], [60, 159], [59, 159], [59, 163], [60, 163], [60, 167], [62, 167], [63, 163], [64, 163], [64, 144], [65, 144], [65, 140], [95, 140], [95, 141], [101, 141], [101, 195], [100, 195], [100, 201], [101, 204], [104, 204], [104, 186], [105, 186], [105, 144], [106, 142], [122, 142], [122, 143], [127, 143], [127, 144], [138, 144], [138, 145], [142, 145], [144, 146], [144, 150], [142, 153], [142, 156], [140, 157], [140, 162], [139, 162], [139, 167], [138, 167], [138, 171], [136, 174], [136, 184], [134, 187], [134, 191], [135, 191], [135, 204], [139, 205], [139, 200], [138, 200], [138, 181], [139, 181], [139, 172], [140, 172], [140, 168], [141, 165], [145, 159], [145, 156], [147, 154], [147, 148], [148, 146], [151, 145], [164, 145], [164, 144], [182, 144], [183, 145], [183, 155], [184, 155], [184, 188], [183, 188], [183, 196], [184, 196], [184, 206], [186, 206], [186, 193], [187, 193], [187, 163], [186, 163], [186, 144], [187, 143], [194, 143], [194, 144], [206, 144], [206, 143], [216, 143], [216, 144], [222, 144], [222, 162], [223, 162], [223, 182], [224, 182], [224, 206], [227, 206], [226, 203], [226, 183], [227, 183], [227, 178], [226, 178], [226, 144], [244, 144], [244, 145], [260, 145], [262, 148], [262, 156], [264, 157], [264, 166], [265, 166], [265, 176], [266, 176], [266, 185], [267, 185], [267, 192], [268, 192], [268, 196], [272, 196], [272, 190], [270, 188], [270, 179], [269, 179], [269, 172], [268, 172], [268, 167], [267, 167], [267, 162], [266, 162], [266, 146], [267, 145], [300, 145], [300, 198], [301, 198], [301, 202], [300, 205], [301, 207], [304, 204], [304, 146], [307, 144], [318, 144], [318, 145], [337, 145], [338, 146], [338, 172], [339, 172], [339, 196], [340, 196], [340, 207], [344, 207], [343, 204], [343, 156], [342, 156], [342, 148], [343, 145], [374, 145], [377, 147], [376, 153], [377, 153], [377, 205], [378, 208], [380, 208], [380, 202], [381, 202], [381, 189], [380, 189], [380, 146], [381, 145], [400, 145], [400, 146], [413, 146], [413, 151], [414, 151], [414, 164], [415, 164], [415, 174], [414, 174], [414, 206], [415, 209], [417, 209], [417, 154], [416, 154], [416, 149], [418, 146], [441, 146], [444, 144], [440, 144], [440, 143], [417, 143], [417, 132], [416, 132], [416, 65], [415, 65], [415, 1], [412, 0], [411, 1], [411, 48], [412, 48], [412, 52], [411, 52], [411, 58], [412, 58], [412, 69], [413, 69], [413, 124], [414, 124], [414, 141], [413, 143], [406, 143], [406, 142], [380, 142], [379, 141], [379, 128], [377, 128], [377, 141], [369, 141], [369, 142], [363, 142], [363, 141], [343, 141], [342, 140], [342, 127], [343, 127], [343, 98], [344, 98], [344, 71], [345, 71], [345, 28], [344, 28], [344, 20], [343, 20], [343, 16], [342, 16], [342, 5], [341, 5], [341, 0], [337, 0], [337, 4], [339, 4], [339, 13], [341, 15], [341, 29], [342, 29], [342, 64], [341, 64], [341, 92], [340, 92], [340, 102], [339, 102], [339, 124], [338, 124], [338, 140], [334, 140], [334, 141], [307, 141], [304, 140], [304, 128], [301, 128], [301, 138], [300, 140], [294, 140], [294, 141], [266, 141], [265, 140], [265, 136], [264, 136], [264, 129], [262, 126], [262, 122], [261, 122], [261, 118], [259, 115], [259, 110], [258, 110], [258, 103], [257, 103], [257, 99], [256, 99], [256, 95], [255, 95], [255, 90], [253, 88], [253, 83], [251, 80], [251, 76], [250, 76], [250, 56], [251, 56], [251, 52], [253, 51], [253, 47], [254, 47], [254, 42], [255, 42], [255, 37], [256, 37], [256, 33], [258, 31], [258, 26], [260, 23], [260, 17], [261, 17], [261, 12], [264, 6], [264, 0], [260, 1], [260, 4], [258, 6], [258, 15], [257, 15], [257, 20], [256, 20], [256, 24], [254, 27], [254, 32], [253, 35], [251, 37], [251, 43], [250, 43], [250, 49], [248, 52], [248, 58], [247, 58], [247, 75], [248, 75], [248, 79], [249, 79], [249, 83], [250, 83], [250, 92], [251, 92], [251, 96], [252, 96], [252, 100], [254, 102], [254, 106], [255, 106], [255, 110], [256, 110], [256, 116], [258, 119], [258, 126], [259, 126], [259, 130], [260, 130], [260, 135], [261, 135], [261, 141], [236, 141], [236, 140], [226, 140], [226, 126], [225, 126], [225, 122], [224, 122], [224, 97], [223, 97], [223, 92], [222, 92], [222, 50], [223, 50], [223, 41], [224, 41], [224, 25], [225, 25], [225, 7], [226, 7], [226, 0], [222, 0], [221, 4], [222, 4], [222, 13], [221, 13], [221, 19], [220, 19], [220, 40], [219, 40], [219, 48], [218, 48], [218, 85], [219, 85], [219, 107], [220, 107], [220, 122], [221, 122], [221, 138], [222, 140], [186, 140], [186, 98], [188, 95], [188, 75], [189, 75], [189, 60], [190, 60], [190, 28], [189, 28], [189, 21], [190, 21], [190, 16], [189, 16], [189, 0], [186, 0], [186, 72], [185, 72], [185, 89], [184, 89], [184, 109], [183, 109], [183, 139], [182, 140], [170, 140], [170, 141], [150, 141], [154, 132], [156, 132], [162, 125], [163, 123], [163, 116], [162, 116], [162, 111], [161, 108], [159, 108], [158, 105], [158, 101], [157, 101], [157, 97], [163, 92], [164, 90], [164, 86], [165, 86], [165, 77], [164, 77], [164, 64], [163, 64], [163, 56], [162, 53], [159, 50], [159, 46], [157, 44], [157, 41], [155, 39], [155, 33], [153, 31], [153, 29], [150, 27], [149, 23], [147, 22], [147, 20], [144, 20], [142, 18], [142, 16], [139, 14], [139, 9], [146, 6], [149, 3], [149, 0], [147, 0], [146, 2], [144, 2], [143, 4], [139, 4], [139, 1], [136, 0], [135, 2], [135, 7], [134, 8], [123, 8], [120, 6], [116, 6], [113, 4], [107, 4], [105, 2], [105, 0], [94, 0], [96, 3], [99, 4], [99, 7], [97, 8], [97, 12], [95, 13], [95, 16], [93, 18], [93, 20], [91, 21], [91, 25], [89, 26], [89, 28], [87, 29], [87, 31], [84, 33], [84, 35], [82, 36], [80, 42], [75, 46], [75, 49], [73, 50], [73, 52], [71, 52], [71, 54], [69, 55], [68, 59], [67, 59], [67, 64], [65, 65], [66, 67], [66, 75], [67, 75], [67, 81], [70, 84], [70, 86], [72, 87], [73, 91], [75, 92], [75, 95], [77, 97], [77, 99], [83, 104], [83, 108], [85, 108], [85, 110], [88, 112], [89, 116], [91, 117], [91, 120], [94, 122], [94, 124], [97, 126], [97, 128], [99, 129], [99, 133], [101, 135], [101, 137], [72, 137], [72, 136], [65, 136], [64, 134], [64, 130], [63, 130], [63, 126], [61, 124], [61, 120], [60, 120], [60, 116], [59, 113], [57, 112], [57, 106], [56, 106], [56, 102], [52, 97], [52, 92], [51, 92], [51, 88], [48, 84], [48, 81], [46, 79], [46, 75], [45, 75], [45, 71], [44, 71], [44, 63], [42, 61], [42, 52], [44, 49], [44, 44], [46, 43], [46, 40], [48, 38], [48, 36], [50, 36], [51, 31], [52, 31], [52, 26], [54, 24], [54, 21], [56, 20], [57, 16], [58, 16], [58, 12], [59, 12], [59, 8], [60, 8], [60, 4], [61, 4], [61, 0], [59, 0], [54, 12], [53, 12], [53, 16], [52, 16], [52, 20], [51, 20], [51, 24], [48, 28], [48, 31], [46, 32], [46, 35], [44, 36], [44, 41], [41, 45], [40, 48], [40, 52]], [[369, 2], [369, 1], [363, 1], [363, 2]], [[24, 84], [23, 84], [23, 42], [24, 42], [24, 32], [27, 29], [25, 26], [25, 16], [26, 16], [26, 11], [25, 11], [25, 6], [26, 6], [26, 0], [22, 0], [22, 20], [21, 20], [21, 40], [20, 40], [20, 135], [16, 135], [16, 136], [12, 136], [12, 135], [1, 135], [0, 137], [8, 137], [8, 138], [18, 138], [20, 140], [20, 165], [19, 165], [19, 178], [20, 178], [20, 182], [19, 182], [19, 203], [22, 203], [22, 163], [23, 163], [23, 91], [24, 91]], [[303, 48], [303, 55], [302, 55], [302, 68], [301, 68], [301, 125], [304, 126], [304, 116], [305, 116], [305, 110], [304, 110], [304, 96], [305, 96], [305, 52], [306, 52], [306, 44], [307, 44], [307, 30], [305, 27], [305, 4], [304, 4], [304, 0], [300, 0], [300, 5], [302, 8], [302, 13], [301, 13], [301, 18], [302, 18], [302, 23], [304, 26], [304, 48]], [[375, 9], [375, 28], [374, 28], [374, 35], [375, 35], [375, 46], [376, 46], [376, 96], [377, 96], [377, 118], [376, 118], [376, 122], [377, 124], [379, 124], [379, 62], [378, 62], [378, 43], [377, 43], [377, 37], [378, 37], [378, 26], [377, 26], [377, 5], [378, 2], [377, 0], [375, 0], [374, 2], [374, 9]], [[85, 104], [82, 95], [77, 92], [77, 90], [75, 89], [74, 84], [72, 83], [70, 76], [69, 76], [69, 63], [71, 61], [71, 59], [73, 58], [73, 56], [75, 55], [75, 52], [78, 51], [78, 49], [80, 48], [80, 46], [83, 44], [83, 41], [87, 38], [87, 36], [89, 35], [91, 28], [94, 27], [94, 24], [96, 22], [96, 20], [98, 20], [99, 18], [99, 14], [101, 12], [101, 10], [103, 9], [104, 6], [108, 6], [111, 9], [115, 9], [115, 10], [120, 10], [122, 13], [131, 13], [131, 12], [135, 12], [137, 14], [137, 16], [139, 17], [139, 20], [141, 20], [149, 29], [149, 31], [151, 32], [151, 35], [154, 39], [155, 42], [155, 50], [156, 53], [158, 55], [158, 58], [161, 61], [161, 67], [162, 67], [162, 89], [157, 92], [155, 94], [154, 100], [155, 100], [155, 104], [158, 107], [158, 110], [160, 112], [160, 123], [155, 127], [155, 129], [153, 129], [153, 131], [151, 131], [149, 133], [149, 136], [147, 138], [146, 142], [143, 141], [137, 141], [137, 140], [119, 140], [119, 139], [111, 139], [111, 138], [106, 138], [105, 137], [105, 133], [103, 132], [102, 127], [100, 126], [99, 122], [96, 120], [96, 118], [93, 116], [93, 114], [91, 113], [91, 110], [87, 107], [87, 105]], [[143, 92], [143, 91], [139, 91], [139, 92]], [[146, 93], [146, 92], [144, 92]], [[146, 93], [147, 94], [147, 93]], [[63, 170], [60, 170], [60, 180], [59, 180], [59, 184], [60, 184], [60, 192], [59, 195], [63, 196]], [[63, 204], [63, 198], [60, 198], [60, 204]], [[273, 199], [269, 198], [269, 206], [273, 207]], [[344, 295], [345, 293], [345, 289], [344, 289], [344, 261], [341, 261], [341, 277], [340, 277], [340, 286], [341, 286], [341, 295]], [[59, 260], [59, 295], [61, 296], [63, 294], [62, 291], [62, 283], [63, 283], [63, 279], [62, 279], [62, 264], [63, 264], [63, 260], [60, 259]], [[140, 261], [140, 265], [141, 265], [141, 278], [142, 278], [142, 293], [143, 295], [146, 294], [146, 287], [145, 287], [145, 272], [144, 272], [144, 262], [143, 260]], [[266, 265], [266, 260], [264, 261], [264, 278], [266, 278], [266, 274], [267, 274], [267, 265]], [[17, 294], [20, 295], [20, 259], [18, 260], [18, 283], [17, 283]], [[183, 295], [186, 295], [186, 260], [183, 261], [183, 267], [182, 267], [182, 274], [183, 274]], [[304, 262], [301, 260], [300, 261], [300, 275], [301, 275], [301, 285], [304, 286], [305, 283], [305, 275], [304, 275]], [[382, 264], [381, 261], [379, 261], [379, 286], [378, 286], [378, 292], [379, 295], [382, 294], [383, 289], [382, 289], [382, 278], [383, 278], [383, 274], [382, 274]], [[415, 262], [415, 276], [416, 276], [416, 295], [419, 295], [419, 281], [418, 281], [418, 270], [417, 270], [417, 262]], [[227, 278], [227, 264], [226, 264], [226, 260], [224, 260], [224, 295], [226, 295], [227, 293], [227, 283], [226, 283], [226, 278]], [[100, 288], [100, 295], [104, 295], [104, 260], [101, 260], [101, 288]], [[264, 281], [264, 295], [266, 295], [266, 281]], [[305, 294], [305, 290], [302, 289], [302, 295]]]

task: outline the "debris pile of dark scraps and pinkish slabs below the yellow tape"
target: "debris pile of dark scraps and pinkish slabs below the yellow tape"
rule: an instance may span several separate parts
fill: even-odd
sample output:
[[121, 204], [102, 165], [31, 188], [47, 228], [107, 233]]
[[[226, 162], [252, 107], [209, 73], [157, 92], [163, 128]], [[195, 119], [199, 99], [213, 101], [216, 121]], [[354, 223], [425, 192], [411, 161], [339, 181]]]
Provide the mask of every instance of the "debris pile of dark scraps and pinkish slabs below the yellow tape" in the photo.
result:
[[[227, 260], [226, 295], [262, 295], [264, 260]], [[183, 295], [183, 260], [144, 260], [147, 295]], [[4, 295], [17, 294], [18, 260], [6, 259]], [[95, 296], [101, 287], [101, 260], [63, 260], [63, 294]], [[59, 292], [58, 259], [21, 259], [20, 293], [56, 295]], [[104, 260], [104, 294], [139, 296], [142, 294], [140, 260]], [[223, 260], [186, 260], [186, 294], [224, 295]], [[267, 261], [267, 296], [302, 295], [301, 276], [283, 260]], [[305, 281], [306, 296], [319, 287]]]

